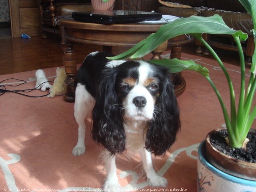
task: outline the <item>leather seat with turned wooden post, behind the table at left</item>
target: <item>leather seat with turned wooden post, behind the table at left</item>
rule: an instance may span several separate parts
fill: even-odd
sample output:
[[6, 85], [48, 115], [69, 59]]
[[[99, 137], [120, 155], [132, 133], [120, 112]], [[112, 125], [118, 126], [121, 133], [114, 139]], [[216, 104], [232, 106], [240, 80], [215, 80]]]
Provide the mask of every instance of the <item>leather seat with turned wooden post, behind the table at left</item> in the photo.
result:
[[92, 11], [91, 0], [37, 0], [42, 21], [42, 38], [47, 33], [59, 33], [54, 27], [56, 16], [71, 16], [72, 12]]

